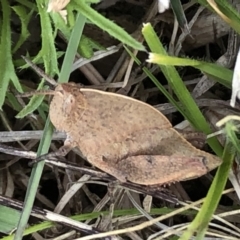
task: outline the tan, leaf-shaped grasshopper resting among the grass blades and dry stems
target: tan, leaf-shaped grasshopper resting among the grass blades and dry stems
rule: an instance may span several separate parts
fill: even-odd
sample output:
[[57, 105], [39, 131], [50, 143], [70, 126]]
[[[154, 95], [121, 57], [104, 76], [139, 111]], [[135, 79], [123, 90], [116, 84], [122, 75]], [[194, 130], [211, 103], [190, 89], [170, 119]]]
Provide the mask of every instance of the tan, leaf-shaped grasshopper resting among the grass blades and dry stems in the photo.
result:
[[144, 102], [75, 83], [59, 84], [51, 94], [50, 119], [67, 134], [57, 155], [78, 147], [92, 165], [121, 182], [169, 184], [200, 177], [221, 164]]

